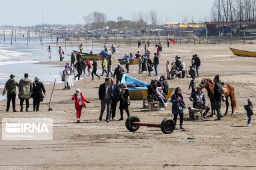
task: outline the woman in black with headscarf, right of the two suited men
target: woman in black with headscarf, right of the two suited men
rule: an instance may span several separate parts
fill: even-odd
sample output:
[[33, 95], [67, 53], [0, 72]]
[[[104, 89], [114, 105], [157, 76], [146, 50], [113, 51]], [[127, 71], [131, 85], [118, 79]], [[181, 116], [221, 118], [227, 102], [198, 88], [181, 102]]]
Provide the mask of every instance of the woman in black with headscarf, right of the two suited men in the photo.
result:
[[120, 109], [121, 118], [119, 119], [119, 121], [123, 120], [123, 110], [125, 110], [125, 112], [127, 113], [127, 117], [130, 116], [129, 105], [125, 104], [125, 100], [129, 100], [130, 91], [127, 88], [127, 85], [125, 83], [121, 83], [120, 88], [121, 88], [121, 92], [120, 92], [120, 95], [119, 95], [119, 101], [120, 101], [119, 109]]

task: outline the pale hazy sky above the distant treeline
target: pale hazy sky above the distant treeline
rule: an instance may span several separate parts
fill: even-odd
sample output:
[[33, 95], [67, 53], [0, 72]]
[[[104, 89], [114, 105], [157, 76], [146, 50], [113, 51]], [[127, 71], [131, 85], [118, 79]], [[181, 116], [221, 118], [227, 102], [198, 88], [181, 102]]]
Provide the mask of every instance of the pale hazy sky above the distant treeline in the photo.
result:
[[1, 1], [0, 26], [35, 26], [45, 24], [85, 24], [83, 16], [93, 11], [105, 13], [107, 20], [132, 19], [133, 13], [155, 9], [161, 23], [210, 19], [214, 0], [11, 0]]

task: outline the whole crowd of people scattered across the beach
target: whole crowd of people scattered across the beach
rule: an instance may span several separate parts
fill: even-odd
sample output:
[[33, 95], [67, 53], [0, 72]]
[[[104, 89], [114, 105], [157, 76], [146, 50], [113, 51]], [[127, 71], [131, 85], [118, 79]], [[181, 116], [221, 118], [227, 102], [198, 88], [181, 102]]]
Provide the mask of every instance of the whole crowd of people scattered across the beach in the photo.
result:
[[[174, 90], [174, 93], [171, 95], [171, 99], [167, 99], [167, 95], [169, 92], [169, 84], [166, 80], [173, 78], [173, 75], [176, 72], [181, 72], [182, 78], [185, 78], [185, 63], [179, 56], [175, 56], [175, 61], [169, 62], [167, 60], [165, 66], [167, 71], [167, 78], [165, 75], [158, 77], [158, 65], [159, 65], [159, 57], [161, 56], [162, 44], [159, 42], [155, 44], [157, 47], [157, 52], [153, 54], [153, 59], [151, 59], [151, 51], [149, 50], [149, 44], [151, 41], [147, 41], [147, 45], [145, 44], [145, 53], [140, 54], [139, 51], [133, 56], [132, 53], [125, 54], [123, 60], [125, 62], [126, 72], [129, 73], [129, 60], [138, 59], [139, 60], [139, 74], [143, 74], [143, 72], [148, 72], [148, 76], [151, 76], [151, 72], [153, 68], [155, 70], [155, 75], [157, 76], [155, 79], [151, 80], [149, 86], [147, 86], [148, 96], [147, 99], [153, 101], [159, 101], [160, 110], [167, 109], [167, 102], [171, 102], [171, 112], [173, 114], [173, 120], [175, 124], [177, 123], [177, 117], [179, 115], [179, 129], [185, 129], [183, 126], [183, 116], [184, 109], [186, 108], [186, 104], [183, 99], [183, 95], [181, 93], [181, 88], [177, 87]], [[138, 42], [138, 47], [142, 46], [142, 42]], [[107, 51], [107, 44], [104, 46], [105, 51]], [[79, 46], [80, 52], [83, 50], [82, 44]], [[49, 56], [51, 55], [51, 47], [47, 48], [49, 51]], [[115, 54], [115, 46], [111, 45], [111, 53]], [[60, 60], [63, 59], [63, 50], [59, 47], [59, 55]], [[103, 60], [100, 62], [102, 68], [103, 76], [106, 74], [105, 82], [100, 84], [99, 86], [99, 100], [101, 101], [101, 111], [99, 114], [99, 121], [103, 120], [103, 114], [105, 110], [107, 110], [107, 114], [105, 117], [106, 122], [110, 122], [110, 120], [115, 120], [117, 104], [119, 102], [119, 110], [120, 110], [120, 118], [119, 121], [124, 120], [123, 110], [125, 110], [127, 117], [129, 117], [129, 88], [125, 83], [121, 83], [122, 75], [125, 73], [125, 70], [121, 67], [121, 64], [118, 64], [115, 68], [114, 72], [112, 72], [111, 66], [113, 65], [113, 58], [111, 55], [108, 57], [103, 57]], [[171, 68], [170, 68], [171, 64]], [[80, 76], [84, 73], [86, 74], [85, 69], [87, 68], [88, 76], [92, 76], [91, 80], [94, 80], [94, 76], [97, 76], [99, 79], [101, 78], [97, 75], [97, 60], [93, 58], [93, 62], [87, 58], [81, 58], [81, 54], [77, 53], [77, 56], [73, 52], [71, 52], [71, 65], [69, 62], [65, 64], [65, 69], [62, 72], [62, 79], [64, 82], [64, 89], [71, 89], [73, 86], [73, 81], [71, 79], [71, 74], [75, 73], [77, 70], [77, 75], [74, 76], [74, 80], [78, 78], [81, 80]], [[201, 60], [197, 54], [194, 54], [191, 59], [191, 65], [189, 66], [189, 75], [191, 76], [191, 82], [189, 84], [189, 89], [191, 88], [191, 96], [189, 96], [189, 100], [193, 102], [193, 108], [198, 108], [204, 110], [203, 119], [207, 119], [207, 113], [210, 108], [207, 106], [207, 101], [205, 99], [205, 94], [202, 89], [203, 85], [199, 84], [196, 86], [195, 78], [199, 76], [199, 68], [201, 66]], [[91, 71], [91, 68], [93, 70]], [[109, 78], [111, 74], [111, 78]], [[9, 112], [9, 108], [11, 102], [13, 104], [13, 112], [17, 112], [15, 108], [15, 100], [16, 100], [16, 87], [19, 88], [19, 100], [20, 100], [20, 112], [23, 112], [23, 103], [25, 101], [25, 111], [29, 112], [29, 99], [33, 98], [33, 111], [39, 112], [40, 103], [43, 102], [43, 98], [45, 94], [45, 88], [42, 82], [39, 81], [39, 77], [35, 77], [35, 81], [32, 82], [28, 78], [29, 74], [25, 73], [24, 78], [22, 78], [19, 83], [15, 80], [15, 75], [11, 74], [9, 80], [5, 84], [5, 88], [3, 90], [3, 95], [7, 93], [7, 108], [6, 111]], [[223, 118], [223, 114], [221, 113], [221, 101], [225, 97], [223, 88], [221, 86], [221, 81], [219, 80], [219, 75], [216, 75], [213, 79], [215, 82], [214, 85], [214, 109], [217, 112], [217, 118], [215, 120], [221, 120]], [[44, 94], [44, 95], [43, 95]], [[81, 93], [81, 90], [77, 88], [75, 90], [75, 94], [71, 98], [75, 101], [75, 109], [77, 110], [77, 123], [80, 122], [82, 108], [86, 108], [85, 103], [90, 103], [87, 98]], [[251, 116], [253, 116], [253, 102], [251, 99], [247, 100], [248, 104], [244, 106], [247, 111], [247, 126], [251, 126]], [[106, 109], [107, 106], [107, 109]]]

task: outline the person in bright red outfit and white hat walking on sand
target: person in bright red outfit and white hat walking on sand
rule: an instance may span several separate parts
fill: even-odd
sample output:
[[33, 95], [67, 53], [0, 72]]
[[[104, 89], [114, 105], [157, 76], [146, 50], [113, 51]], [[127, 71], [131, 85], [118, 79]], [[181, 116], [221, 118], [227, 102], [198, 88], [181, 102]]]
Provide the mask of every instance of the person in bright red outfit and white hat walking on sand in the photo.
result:
[[75, 100], [75, 109], [77, 110], [77, 123], [80, 123], [82, 108], [86, 108], [85, 102], [87, 103], [91, 103], [91, 102], [89, 102], [85, 98], [85, 96], [83, 96], [79, 88], [75, 90], [75, 94], [72, 97], [72, 100]]

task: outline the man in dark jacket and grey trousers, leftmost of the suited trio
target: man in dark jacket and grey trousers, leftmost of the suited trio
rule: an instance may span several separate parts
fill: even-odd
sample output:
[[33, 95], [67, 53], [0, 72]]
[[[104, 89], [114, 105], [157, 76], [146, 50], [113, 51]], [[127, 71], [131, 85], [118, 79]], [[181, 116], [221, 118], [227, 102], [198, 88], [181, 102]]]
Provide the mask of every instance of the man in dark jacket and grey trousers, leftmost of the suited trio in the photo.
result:
[[99, 116], [99, 121], [102, 120], [103, 112], [107, 104], [107, 116], [106, 122], [109, 122], [110, 118], [110, 107], [111, 101], [113, 99], [113, 89], [110, 84], [110, 78], [105, 78], [105, 83], [99, 86], [99, 100], [101, 100], [101, 115]]

